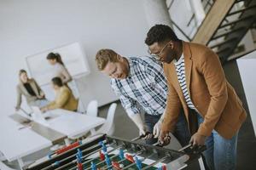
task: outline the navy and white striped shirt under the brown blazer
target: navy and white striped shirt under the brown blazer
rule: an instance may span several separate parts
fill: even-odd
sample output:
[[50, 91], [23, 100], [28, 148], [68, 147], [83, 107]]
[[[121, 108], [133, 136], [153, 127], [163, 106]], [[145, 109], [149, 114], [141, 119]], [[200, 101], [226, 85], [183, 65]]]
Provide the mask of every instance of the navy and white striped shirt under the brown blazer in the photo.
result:
[[[174, 62], [176, 73], [177, 73], [177, 81], [179, 82], [179, 86], [183, 91], [184, 99], [186, 100], [186, 103], [190, 109], [193, 109], [195, 111], [195, 105], [192, 103], [192, 100], [190, 99], [187, 84], [186, 84], [186, 78], [185, 78], [185, 62], [184, 62], [184, 55], [178, 59], [177, 62]], [[197, 111], [198, 112], [198, 111]]]

